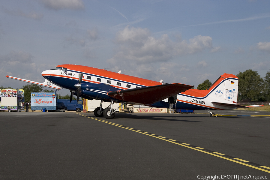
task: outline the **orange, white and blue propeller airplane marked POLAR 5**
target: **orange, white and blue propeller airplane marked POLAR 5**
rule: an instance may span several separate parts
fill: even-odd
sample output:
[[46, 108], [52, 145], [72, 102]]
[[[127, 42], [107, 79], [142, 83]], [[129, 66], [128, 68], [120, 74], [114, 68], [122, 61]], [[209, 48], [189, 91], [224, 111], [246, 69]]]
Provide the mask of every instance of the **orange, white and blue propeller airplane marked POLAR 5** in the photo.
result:
[[[45, 82], [35, 82], [13, 76], [6, 76], [32, 84], [54, 89], [69, 89], [70, 100], [74, 95], [93, 100], [101, 100], [100, 107], [94, 111], [96, 117], [111, 119], [115, 116], [113, 103], [128, 105], [141, 104], [150, 107], [207, 110], [232, 110], [248, 108], [236, 104], [238, 77], [224, 73], [207, 90], [192, 89], [193, 86], [180, 83], [162, 83], [134, 76], [128, 76], [93, 67], [62, 64], [55, 69], [42, 72]], [[106, 109], [102, 102], [110, 102]]]

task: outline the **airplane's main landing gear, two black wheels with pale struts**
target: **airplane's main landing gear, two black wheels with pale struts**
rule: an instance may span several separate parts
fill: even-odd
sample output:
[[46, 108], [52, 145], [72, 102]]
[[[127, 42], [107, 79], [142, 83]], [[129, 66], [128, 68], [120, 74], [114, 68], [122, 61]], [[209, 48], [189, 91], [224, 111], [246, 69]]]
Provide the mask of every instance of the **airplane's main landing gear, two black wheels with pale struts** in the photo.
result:
[[113, 119], [114, 116], [115, 116], [115, 113], [116, 113], [116, 110], [122, 106], [119, 106], [116, 110], [113, 109], [113, 100], [111, 100], [111, 103], [110, 103], [110, 106], [108, 106], [107, 108], [103, 109], [102, 108], [102, 102], [100, 102], [100, 106], [97, 107], [95, 110], [94, 110], [94, 115], [96, 117], [105, 117], [106, 119]]

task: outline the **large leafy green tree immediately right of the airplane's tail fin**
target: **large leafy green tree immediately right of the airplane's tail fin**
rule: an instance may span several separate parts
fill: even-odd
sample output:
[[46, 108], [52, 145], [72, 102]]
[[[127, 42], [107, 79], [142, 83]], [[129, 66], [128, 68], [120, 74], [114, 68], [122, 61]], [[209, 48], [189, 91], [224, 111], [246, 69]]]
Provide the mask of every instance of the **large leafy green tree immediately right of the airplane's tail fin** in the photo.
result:
[[257, 71], [248, 69], [236, 75], [238, 77], [238, 100], [251, 99], [257, 101], [262, 97], [263, 79]]

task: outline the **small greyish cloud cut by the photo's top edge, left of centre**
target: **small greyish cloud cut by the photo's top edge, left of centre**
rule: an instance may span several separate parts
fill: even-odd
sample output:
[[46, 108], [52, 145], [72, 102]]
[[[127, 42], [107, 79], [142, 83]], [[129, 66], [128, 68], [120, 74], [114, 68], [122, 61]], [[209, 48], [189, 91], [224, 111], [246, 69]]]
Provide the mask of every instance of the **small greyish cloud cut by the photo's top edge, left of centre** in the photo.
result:
[[60, 9], [72, 9], [82, 10], [84, 4], [82, 0], [41, 0], [46, 8], [60, 10]]

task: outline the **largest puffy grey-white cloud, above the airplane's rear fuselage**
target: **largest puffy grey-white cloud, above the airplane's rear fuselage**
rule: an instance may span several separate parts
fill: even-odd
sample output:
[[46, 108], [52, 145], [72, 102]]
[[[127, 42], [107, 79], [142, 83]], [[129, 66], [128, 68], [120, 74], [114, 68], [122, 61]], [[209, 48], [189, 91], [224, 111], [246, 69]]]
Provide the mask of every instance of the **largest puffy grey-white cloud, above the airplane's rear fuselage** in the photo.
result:
[[116, 33], [115, 42], [119, 44], [117, 53], [108, 62], [115, 64], [132, 61], [137, 64], [167, 62], [174, 57], [194, 54], [212, 48], [212, 38], [198, 35], [187, 41], [172, 41], [167, 34], [157, 39], [148, 29], [126, 26]]

